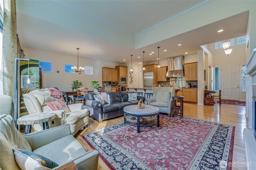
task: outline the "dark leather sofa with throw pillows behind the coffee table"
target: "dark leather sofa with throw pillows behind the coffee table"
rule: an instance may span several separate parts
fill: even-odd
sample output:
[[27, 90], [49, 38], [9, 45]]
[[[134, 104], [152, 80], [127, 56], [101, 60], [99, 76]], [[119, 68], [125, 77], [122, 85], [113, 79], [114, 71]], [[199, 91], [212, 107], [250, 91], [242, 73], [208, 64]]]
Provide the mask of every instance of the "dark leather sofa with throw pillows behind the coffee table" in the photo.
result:
[[123, 116], [125, 106], [137, 105], [140, 99], [142, 99], [143, 102], [145, 101], [144, 96], [138, 96], [138, 101], [128, 101], [127, 93], [132, 93], [131, 91], [108, 92], [109, 103], [102, 105], [94, 99], [94, 95], [100, 93], [102, 92], [90, 92], [86, 95], [86, 106], [89, 110], [89, 116], [96, 119], [99, 123], [102, 123], [102, 121], [106, 119]]

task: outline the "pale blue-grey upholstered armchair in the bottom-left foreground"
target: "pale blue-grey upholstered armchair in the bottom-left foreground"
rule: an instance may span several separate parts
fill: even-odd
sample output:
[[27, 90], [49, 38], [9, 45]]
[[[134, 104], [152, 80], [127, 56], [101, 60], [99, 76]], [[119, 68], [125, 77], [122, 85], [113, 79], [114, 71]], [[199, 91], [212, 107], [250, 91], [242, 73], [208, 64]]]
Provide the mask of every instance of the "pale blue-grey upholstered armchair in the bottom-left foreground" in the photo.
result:
[[97, 170], [98, 167], [98, 151], [86, 152], [70, 135], [70, 125], [22, 134], [15, 128], [10, 115], [0, 115], [0, 169], [20, 170], [12, 148], [40, 154], [56, 162], [59, 165], [56, 168], [69, 162], [74, 162], [78, 170]]

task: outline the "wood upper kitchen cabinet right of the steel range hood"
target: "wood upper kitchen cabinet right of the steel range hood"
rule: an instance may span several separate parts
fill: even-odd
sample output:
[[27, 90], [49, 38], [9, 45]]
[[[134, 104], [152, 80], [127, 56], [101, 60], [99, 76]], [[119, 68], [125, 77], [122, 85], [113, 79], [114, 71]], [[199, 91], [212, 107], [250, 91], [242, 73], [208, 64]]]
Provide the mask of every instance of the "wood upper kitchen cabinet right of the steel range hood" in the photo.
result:
[[186, 81], [197, 81], [197, 62], [184, 64], [184, 77]]

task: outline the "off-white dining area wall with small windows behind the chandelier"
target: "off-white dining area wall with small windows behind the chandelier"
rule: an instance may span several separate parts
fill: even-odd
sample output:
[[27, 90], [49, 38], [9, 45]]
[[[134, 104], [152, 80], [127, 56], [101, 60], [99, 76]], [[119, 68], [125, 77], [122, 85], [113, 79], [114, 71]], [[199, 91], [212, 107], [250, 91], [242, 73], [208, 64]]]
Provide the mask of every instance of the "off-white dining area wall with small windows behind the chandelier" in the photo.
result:
[[[115, 68], [116, 65], [120, 65], [108, 61], [79, 57], [79, 66], [92, 66], [93, 75], [84, 75], [83, 73], [70, 74], [64, 73], [64, 64], [77, 65], [76, 55], [66, 55], [27, 47], [23, 47], [23, 50], [26, 58], [52, 62], [52, 73], [43, 72], [44, 88], [58, 87], [61, 91], [72, 90], [70, 84], [74, 80], [82, 81], [84, 87], [88, 87], [89, 90], [92, 90], [89, 85], [91, 81], [100, 81], [99, 83], [102, 85], [102, 67]], [[57, 73], [57, 69], [60, 71], [59, 73]]]

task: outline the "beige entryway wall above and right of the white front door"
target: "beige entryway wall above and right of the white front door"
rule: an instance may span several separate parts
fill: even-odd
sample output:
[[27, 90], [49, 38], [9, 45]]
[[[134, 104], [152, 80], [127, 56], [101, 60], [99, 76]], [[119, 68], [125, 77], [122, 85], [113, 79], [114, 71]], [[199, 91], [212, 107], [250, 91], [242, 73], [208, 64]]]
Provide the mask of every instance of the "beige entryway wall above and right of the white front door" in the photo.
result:
[[[240, 65], [240, 101], [246, 101], [246, 92], [242, 92], [242, 65], [246, 65], [246, 44], [236, 45], [236, 38], [234, 39], [234, 45], [230, 46], [233, 48], [232, 53], [228, 56], [225, 54], [223, 48], [215, 49], [215, 43], [207, 45], [209, 51], [212, 53], [213, 66], [221, 67], [227, 65]], [[221, 77], [221, 75], [220, 75]]]

